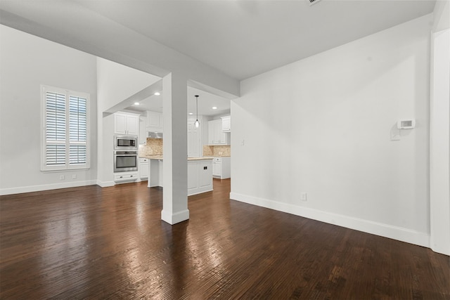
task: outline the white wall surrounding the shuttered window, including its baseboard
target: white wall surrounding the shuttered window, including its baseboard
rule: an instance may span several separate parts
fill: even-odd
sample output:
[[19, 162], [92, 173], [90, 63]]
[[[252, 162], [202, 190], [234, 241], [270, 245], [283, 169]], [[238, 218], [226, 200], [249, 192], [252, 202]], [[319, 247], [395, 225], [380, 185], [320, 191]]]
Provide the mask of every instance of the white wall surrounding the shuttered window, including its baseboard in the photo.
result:
[[[94, 184], [96, 58], [4, 25], [0, 45], [0, 193]], [[40, 171], [41, 84], [90, 93], [91, 169]]]

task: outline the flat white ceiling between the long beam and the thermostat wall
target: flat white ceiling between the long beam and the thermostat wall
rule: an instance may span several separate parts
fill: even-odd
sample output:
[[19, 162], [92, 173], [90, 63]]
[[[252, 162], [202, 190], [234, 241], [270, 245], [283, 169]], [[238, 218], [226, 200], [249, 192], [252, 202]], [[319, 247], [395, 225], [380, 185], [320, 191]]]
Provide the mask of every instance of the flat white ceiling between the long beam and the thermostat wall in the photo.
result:
[[435, 0], [78, 2], [236, 79], [418, 18], [435, 6]]

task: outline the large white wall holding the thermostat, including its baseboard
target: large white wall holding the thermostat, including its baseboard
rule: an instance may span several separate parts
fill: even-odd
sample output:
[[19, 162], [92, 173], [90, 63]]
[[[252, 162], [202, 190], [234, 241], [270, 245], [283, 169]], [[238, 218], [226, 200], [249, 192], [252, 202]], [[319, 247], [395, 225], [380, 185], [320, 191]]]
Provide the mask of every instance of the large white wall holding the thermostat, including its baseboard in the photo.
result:
[[242, 81], [231, 198], [428, 246], [431, 20]]

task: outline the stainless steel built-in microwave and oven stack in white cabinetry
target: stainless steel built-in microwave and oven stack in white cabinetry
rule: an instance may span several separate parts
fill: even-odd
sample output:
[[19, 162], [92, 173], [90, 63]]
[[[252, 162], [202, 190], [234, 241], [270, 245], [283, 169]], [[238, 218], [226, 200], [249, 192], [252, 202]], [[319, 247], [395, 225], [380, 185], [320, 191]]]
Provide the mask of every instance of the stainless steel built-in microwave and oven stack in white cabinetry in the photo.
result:
[[138, 170], [138, 136], [114, 136], [114, 172]]

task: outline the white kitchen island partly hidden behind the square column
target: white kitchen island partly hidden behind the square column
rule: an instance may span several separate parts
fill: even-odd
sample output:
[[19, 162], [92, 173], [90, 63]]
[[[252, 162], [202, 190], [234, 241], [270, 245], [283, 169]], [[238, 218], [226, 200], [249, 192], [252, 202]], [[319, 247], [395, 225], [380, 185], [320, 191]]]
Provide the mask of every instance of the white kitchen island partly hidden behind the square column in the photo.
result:
[[[149, 159], [148, 184], [163, 187], [162, 155], [141, 156]], [[212, 190], [212, 157], [188, 157], [188, 196], [209, 192]]]

